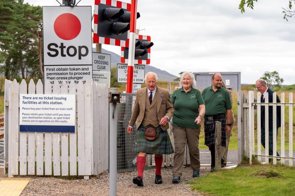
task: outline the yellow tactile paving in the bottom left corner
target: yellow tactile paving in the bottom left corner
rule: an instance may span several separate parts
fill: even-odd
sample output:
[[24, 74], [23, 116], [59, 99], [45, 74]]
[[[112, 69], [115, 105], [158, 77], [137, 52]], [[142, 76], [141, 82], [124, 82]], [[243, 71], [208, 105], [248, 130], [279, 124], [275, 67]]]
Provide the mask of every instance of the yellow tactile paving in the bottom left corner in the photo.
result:
[[31, 178], [3, 178], [0, 181], [0, 196], [19, 196]]

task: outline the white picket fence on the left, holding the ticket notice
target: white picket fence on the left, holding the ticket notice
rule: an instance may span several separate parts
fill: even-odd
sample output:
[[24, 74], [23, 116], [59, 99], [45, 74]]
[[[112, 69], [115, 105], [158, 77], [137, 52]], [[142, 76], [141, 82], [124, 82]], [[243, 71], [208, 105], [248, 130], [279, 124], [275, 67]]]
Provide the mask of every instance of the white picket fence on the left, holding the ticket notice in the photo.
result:
[[107, 86], [93, 81], [58, 85], [55, 81], [52, 93], [50, 88], [45, 90], [44, 94], [76, 95], [75, 133], [19, 132], [19, 94], [43, 94], [43, 84], [30, 80], [27, 87], [25, 80], [20, 84], [5, 80], [4, 162], [8, 177], [103, 173], [109, 162]]

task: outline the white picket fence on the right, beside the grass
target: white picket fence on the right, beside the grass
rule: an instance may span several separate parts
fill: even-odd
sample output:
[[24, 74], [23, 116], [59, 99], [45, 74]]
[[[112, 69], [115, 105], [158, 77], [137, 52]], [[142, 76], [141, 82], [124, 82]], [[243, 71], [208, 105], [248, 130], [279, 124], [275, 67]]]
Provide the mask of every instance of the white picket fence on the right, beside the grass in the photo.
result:
[[[269, 162], [268, 158], [273, 158], [273, 164], [277, 163], [277, 159], [281, 159], [282, 164], [288, 164], [293, 166], [293, 93], [289, 93], [289, 101], [285, 102], [285, 93], [281, 93], [281, 103], [276, 103], [276, 93], [273, 93], [273, 103], [268, 102], [268, 93], [265, 96], [265, 103], [260, 103], [261, 93], [257, 93], [257, 101], [254, 101], [254, 91], [248, 92], [246, 99], [244, 92], [238, 94], [238, 155], [239, 162], [241, 162], [243, 156], [249, 157], [249, 162], [252, 164], [252, 155], [257, 156], [259, 162], [263, 162], [262, 157], [265, 158], [265, 163]], [[257, 111], [255, 107], [257, 106]], [[277, 151], [277, 136], [276, 131], [273, 131], [273, 156], [269, 155], [269, 143], [265, 142], [265, 150], [261, 149], [261, 106], [265, 106], [265, 141], [269, 141], [269, 106], [272, 106], [273, 110], [273, 130], [276, 130], [276, 107], [281, 106], [281, 151], [280, 157], [276, 156]], [[288, 147], [285, 149], [285, 108], [288, 107], [289, 112], [287, 114], [288, 123]], [[255, 123], [256, 122], [256, 123]], [[255, 127], [257, 124], [257, 128]], [[257, 141], [255, 141], [255, 134]], [[286, 163], [287, 162], [287, 163]]]

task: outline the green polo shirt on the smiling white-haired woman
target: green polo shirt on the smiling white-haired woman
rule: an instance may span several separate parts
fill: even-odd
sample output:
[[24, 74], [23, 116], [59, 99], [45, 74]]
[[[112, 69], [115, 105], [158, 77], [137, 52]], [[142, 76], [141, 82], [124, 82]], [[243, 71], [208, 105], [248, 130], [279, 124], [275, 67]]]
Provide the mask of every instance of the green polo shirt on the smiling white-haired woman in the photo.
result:
[[201, 92], [191, 88], [187, 93], [181, 89], [174, 90], [171, 101], [174, 104], [172, 126], [198, 128], [195, 120], [199, 115], [199, 105], [204, 104]]

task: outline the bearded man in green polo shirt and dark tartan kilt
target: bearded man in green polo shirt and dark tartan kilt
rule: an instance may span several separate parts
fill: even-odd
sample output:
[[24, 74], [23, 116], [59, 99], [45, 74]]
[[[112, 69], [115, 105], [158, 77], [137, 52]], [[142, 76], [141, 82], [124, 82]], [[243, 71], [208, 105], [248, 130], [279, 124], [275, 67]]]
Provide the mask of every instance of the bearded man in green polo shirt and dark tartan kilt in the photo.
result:
[[[211, 172], [215, 169], [215, 121], [221, 122], [221, 146], [226, 146], [226, 132], [230, 132], [231, 124], [225, 124], [225, 116], [230, 122], [232, 118], [232, 105], [230, 95], [221, 87], [222, 76], [219, 73], [212, 75], [212, 85], [202, 91], [206, 111], [204, 121], [205, 145], [211, 151]], [[221, 157], [221, 163], [224, 159]]]

